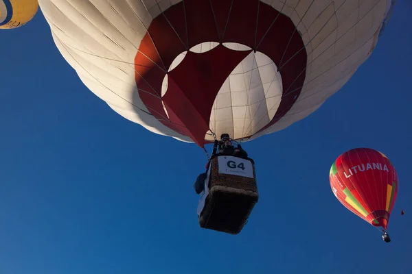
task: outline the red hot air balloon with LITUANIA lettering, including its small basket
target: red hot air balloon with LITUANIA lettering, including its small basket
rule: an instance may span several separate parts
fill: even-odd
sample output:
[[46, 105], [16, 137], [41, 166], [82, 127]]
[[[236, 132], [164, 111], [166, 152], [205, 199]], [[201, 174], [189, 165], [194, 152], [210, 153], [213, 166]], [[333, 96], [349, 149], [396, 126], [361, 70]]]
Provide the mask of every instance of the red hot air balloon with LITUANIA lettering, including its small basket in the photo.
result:
[[332, 164], [330, 187], [348, 210], [387, 234], [389, 216], [398, 194], [398, 175], [384, 154], [374, 149], [351, 149]]

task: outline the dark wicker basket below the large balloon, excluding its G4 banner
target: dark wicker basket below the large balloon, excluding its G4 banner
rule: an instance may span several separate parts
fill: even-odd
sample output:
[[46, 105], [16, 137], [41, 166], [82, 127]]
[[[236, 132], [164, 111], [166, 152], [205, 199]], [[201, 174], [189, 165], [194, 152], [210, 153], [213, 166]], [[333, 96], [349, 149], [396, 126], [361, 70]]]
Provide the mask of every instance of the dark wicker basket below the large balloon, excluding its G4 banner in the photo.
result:
[[253, 178], [220, 174], [218, 158], [211, 160], [209, 196], [199, 216], [201, 227], [229, 234], [242, 231], [259, 199], [255, 166], [251, 163]]

